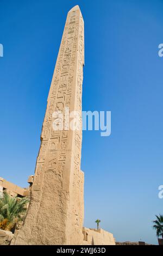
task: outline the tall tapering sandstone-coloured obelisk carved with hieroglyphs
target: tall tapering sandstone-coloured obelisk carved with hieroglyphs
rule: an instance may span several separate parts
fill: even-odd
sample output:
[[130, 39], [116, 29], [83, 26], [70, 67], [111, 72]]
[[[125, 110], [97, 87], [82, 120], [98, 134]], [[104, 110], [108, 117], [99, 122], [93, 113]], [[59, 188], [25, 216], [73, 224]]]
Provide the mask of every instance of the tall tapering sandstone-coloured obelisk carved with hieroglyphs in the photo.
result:
[[[30, 204], [14, 245], [80, 245], [83, 241], [83, 65], [84, 21], [76, 5], [67, 15], [42, 125]], [[76, 111], [79, 129], [54, 129], [62, 121], [54, 113], [65, 117], [68, 108], [70, 113]]]

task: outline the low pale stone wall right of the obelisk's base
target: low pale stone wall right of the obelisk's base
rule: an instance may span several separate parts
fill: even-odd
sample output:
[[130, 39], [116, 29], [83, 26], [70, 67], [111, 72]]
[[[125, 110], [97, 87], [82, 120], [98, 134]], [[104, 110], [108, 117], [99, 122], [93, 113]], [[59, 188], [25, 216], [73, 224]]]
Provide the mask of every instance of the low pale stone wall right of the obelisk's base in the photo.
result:
[[103, 229], [83, 228], [83, 245], [115, 245], [114, 236]]

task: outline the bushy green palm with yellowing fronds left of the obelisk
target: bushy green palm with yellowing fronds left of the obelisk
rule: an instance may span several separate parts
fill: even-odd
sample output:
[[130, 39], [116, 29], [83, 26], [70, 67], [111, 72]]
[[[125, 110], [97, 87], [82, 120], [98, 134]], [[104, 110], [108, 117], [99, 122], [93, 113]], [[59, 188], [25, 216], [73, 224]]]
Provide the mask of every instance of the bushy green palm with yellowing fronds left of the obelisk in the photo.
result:
[[27, 211], [28, 198], [11, 197], [7, 193], [3, 193], [0, 198], [0, 229], [11, 230], [16, 223], [24, 217]]

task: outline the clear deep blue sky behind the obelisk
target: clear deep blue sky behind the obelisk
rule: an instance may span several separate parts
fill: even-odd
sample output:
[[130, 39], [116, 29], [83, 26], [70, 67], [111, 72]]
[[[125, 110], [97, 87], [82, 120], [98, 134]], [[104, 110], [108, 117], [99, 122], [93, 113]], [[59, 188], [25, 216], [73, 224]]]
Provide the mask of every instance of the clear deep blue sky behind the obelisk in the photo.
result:
[[40, 133], [67, 11], [85, 21], [84, 111], [111, 111], [111, 136], [83, 132], [86, 227], [117, 241], [157, 243], [163, 214], [163, 2], [1, 0], [0, 176], [20, 186], [34, 174]]

